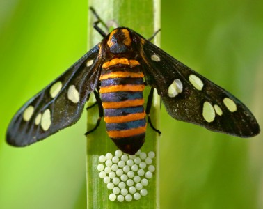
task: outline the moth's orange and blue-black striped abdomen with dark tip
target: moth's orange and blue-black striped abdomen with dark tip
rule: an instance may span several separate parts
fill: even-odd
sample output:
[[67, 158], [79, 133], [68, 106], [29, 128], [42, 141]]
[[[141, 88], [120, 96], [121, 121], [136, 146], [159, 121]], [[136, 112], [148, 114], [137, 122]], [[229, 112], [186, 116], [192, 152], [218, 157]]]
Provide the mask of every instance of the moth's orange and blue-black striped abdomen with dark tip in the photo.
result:
[[102, 66], [100, 94], [109, 137], [133, 155], [145, 140], [143, 73], [137, 61], [112, 59]]

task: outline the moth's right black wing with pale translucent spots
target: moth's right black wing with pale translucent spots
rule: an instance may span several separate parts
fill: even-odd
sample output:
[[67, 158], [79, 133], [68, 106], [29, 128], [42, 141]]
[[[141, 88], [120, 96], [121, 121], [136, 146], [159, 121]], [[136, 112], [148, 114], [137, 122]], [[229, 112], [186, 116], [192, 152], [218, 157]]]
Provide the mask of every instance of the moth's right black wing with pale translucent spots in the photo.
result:
[[[146, 82], [157, 88], [170, 116], [239, 137], [252, 137], [260, 132], [253, 114], [232, 94], [148, 40], [141, 42]], [[174, 85], [170, 87], [171, 84]], [[170, 97], [168, 89], [177, 95]]]

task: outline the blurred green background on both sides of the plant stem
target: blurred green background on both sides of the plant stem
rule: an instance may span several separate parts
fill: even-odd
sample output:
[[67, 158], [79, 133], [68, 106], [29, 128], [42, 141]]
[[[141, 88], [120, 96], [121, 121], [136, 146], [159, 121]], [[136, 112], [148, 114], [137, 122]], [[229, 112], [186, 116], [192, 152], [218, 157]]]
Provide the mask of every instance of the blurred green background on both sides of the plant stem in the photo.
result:
[[[86, 53], [86, 1], [0, 0], [0, 208], [86, 208], [85, 116], [27, 148], [15, 111]], [[228, 89], [263, 127], [263, 1], [161, 2], [161, 48]], [[161, 111], [161, 208], [263, 208], [263, 134], [239, 139]]]

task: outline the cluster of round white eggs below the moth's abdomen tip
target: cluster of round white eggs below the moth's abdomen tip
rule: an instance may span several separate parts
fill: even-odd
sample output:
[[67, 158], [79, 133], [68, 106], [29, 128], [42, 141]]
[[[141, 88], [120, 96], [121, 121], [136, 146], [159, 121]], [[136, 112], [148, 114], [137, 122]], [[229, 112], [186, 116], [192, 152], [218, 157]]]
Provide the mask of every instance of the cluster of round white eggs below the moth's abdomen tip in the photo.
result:
[[144, 153], [141, 150], [135, 155], [127, 155], [120, 150], [99, 156], [99, 178], [102, 178], [106, 187], [111, 190], [111, 201], [131, 201], [141, 199], [148, 194], [145, 187], [148, 179], [152, 178], [155, 171], [152, 160], [154, 152]]

